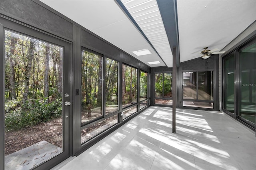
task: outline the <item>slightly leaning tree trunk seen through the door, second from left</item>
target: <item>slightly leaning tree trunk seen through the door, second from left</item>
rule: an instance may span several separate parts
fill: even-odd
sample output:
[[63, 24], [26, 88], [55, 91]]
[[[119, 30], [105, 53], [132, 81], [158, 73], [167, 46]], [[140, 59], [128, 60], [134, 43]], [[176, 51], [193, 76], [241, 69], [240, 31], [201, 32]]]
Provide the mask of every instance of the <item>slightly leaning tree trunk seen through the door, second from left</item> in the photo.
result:
[[34, 58], [34, 43], [36, 40], [30, 39], [30, 45], [29, 45], [29, 54], [26, 56], [28, 64], [26, 65], [26, 69], [24, 71], [24, 93], [23, 93], [23, 99], [22, 103], [25, 103], [28, 100], [28, 92], [29, 92], [29, 77], [32, 67], [32, 60]]

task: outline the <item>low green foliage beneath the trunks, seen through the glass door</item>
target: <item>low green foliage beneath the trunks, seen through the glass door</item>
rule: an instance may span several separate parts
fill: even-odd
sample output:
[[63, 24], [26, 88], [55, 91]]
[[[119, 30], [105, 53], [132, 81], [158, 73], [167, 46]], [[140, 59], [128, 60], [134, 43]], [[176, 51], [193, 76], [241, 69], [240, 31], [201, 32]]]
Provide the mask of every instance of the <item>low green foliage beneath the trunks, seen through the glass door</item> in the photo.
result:
[[13, 101], [8, 101], [5, 113], [5, 129], [16, 130], [36, 125], [39, 122], [48, 121], [62, 115], [62, 100], [57, 99], [47, 103], [47, 99], [26, 101], [20, 107], [16, 107]]

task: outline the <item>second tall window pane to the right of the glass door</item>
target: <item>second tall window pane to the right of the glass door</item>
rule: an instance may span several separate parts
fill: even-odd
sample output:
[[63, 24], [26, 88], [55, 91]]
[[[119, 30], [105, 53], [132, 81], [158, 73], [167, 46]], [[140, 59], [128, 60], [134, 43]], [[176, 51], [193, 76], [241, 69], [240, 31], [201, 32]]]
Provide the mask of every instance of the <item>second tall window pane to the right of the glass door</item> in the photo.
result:
[[118, 62], [106, 58], [106, 115], [118, 110]]

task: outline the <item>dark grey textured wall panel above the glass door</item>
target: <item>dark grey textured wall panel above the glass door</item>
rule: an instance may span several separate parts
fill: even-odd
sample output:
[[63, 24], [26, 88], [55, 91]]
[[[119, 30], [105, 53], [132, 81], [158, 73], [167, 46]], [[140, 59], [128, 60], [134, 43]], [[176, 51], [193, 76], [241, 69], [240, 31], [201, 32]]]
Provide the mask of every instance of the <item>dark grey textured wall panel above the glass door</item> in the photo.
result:
[[0, 12], [64, 38], [73, 38], [73, 24], [30, 0], [1, 0]]

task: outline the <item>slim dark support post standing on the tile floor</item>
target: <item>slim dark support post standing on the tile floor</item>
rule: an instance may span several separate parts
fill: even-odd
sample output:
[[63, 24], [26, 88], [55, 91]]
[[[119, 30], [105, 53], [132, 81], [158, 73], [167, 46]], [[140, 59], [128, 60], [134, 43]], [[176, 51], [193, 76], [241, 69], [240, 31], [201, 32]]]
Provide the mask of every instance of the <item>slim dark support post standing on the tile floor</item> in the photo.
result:
[[176, 133], [176, 47], [172, 48], [172, 133]]

